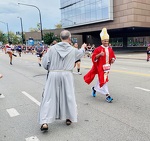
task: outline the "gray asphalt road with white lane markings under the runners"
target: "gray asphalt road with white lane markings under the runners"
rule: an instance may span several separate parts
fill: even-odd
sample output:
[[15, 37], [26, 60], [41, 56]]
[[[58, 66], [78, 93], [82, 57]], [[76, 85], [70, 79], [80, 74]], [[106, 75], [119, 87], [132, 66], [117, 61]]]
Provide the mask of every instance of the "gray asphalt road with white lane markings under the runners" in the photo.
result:
[[[42, 133], [37, 123], [46, 71], [36, 55], [23, 54], [9, 65], [0, 52], [0, 141], [150, 141], [150, 62], [145, 54], [117, 54], [109, 74], [113, 103], [91, 87], [83, 76], [91, 68], [90, 58], [82, 58], [82, 75], [74, 74], [78, 122], [49, 125]], [[76, 71], [76, 69], [74, 70]]]

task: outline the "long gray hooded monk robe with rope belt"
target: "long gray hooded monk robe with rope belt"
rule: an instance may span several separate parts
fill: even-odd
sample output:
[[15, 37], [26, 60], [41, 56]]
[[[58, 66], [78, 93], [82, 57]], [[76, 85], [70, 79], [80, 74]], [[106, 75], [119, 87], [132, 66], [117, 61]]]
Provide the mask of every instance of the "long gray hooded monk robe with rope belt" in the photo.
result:
[[72, 70], [75, 61], [84, 53], [84, 48], [78, 50], [69, 43], [60, 42], [50, 47], [44, 55], [42, 65], [49, 70], [49, 74], [40, 106], [40, 124], [51, 123], [56, 119], [77, 122]]

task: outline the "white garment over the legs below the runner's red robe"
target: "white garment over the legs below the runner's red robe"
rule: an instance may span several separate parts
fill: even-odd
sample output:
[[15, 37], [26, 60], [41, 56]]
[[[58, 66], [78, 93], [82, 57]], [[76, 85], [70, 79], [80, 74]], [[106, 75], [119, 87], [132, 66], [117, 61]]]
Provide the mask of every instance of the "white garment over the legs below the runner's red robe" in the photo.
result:
[[101, 93], [103, 95], [109, 94], [107, 83], [105, 83], [101, 88], [100, 88], [99, 85], [100, 85], [100, 82], [99, 82], [99, 80], [97, 80], [97, 83], [96, 83], [96, 85], [94, 87], [96, 92], [99, 92], [99, 93]]

